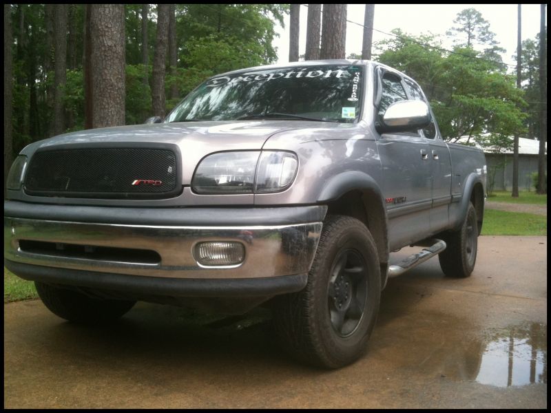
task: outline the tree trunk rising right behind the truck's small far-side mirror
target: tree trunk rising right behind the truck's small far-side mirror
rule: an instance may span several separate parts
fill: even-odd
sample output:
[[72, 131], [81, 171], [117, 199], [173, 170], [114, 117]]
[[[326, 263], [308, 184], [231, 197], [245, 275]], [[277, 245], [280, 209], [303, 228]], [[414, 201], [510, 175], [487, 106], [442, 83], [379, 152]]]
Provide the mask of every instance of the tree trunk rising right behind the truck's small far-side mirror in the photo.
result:
[[165, 66], [167, 59], [168, 5], [157, 5], [157, 37], [153, 57], [153, 115], [165, 117]]

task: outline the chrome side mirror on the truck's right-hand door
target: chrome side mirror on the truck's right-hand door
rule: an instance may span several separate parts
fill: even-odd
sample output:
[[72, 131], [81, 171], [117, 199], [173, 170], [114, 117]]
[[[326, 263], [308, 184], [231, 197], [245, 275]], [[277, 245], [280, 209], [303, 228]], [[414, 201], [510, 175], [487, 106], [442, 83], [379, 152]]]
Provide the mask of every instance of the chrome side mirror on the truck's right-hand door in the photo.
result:
[[423, 129], [430, 124], [428, 105], [421, 100], [401, 100], [393, 103], [384, 112], [382, 125], [377, 131], [403, 132], [412, 129]]

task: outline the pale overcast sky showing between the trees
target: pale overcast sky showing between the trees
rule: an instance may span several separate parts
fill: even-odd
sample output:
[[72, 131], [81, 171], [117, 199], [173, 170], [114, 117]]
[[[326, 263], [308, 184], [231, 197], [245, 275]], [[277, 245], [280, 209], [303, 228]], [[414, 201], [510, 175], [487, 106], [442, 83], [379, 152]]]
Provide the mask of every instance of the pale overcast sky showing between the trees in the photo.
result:
[[[445, 41], [444, 47], [450, 48], [446, 30], [453, 25], [457, 13], [466, 8], [475, 8], [482, 17], [490, 22], [490, 30], [496, 34], [499, 45], [507, 50], [502, 55], [504, 63], [515, 64], [512, 55], [517, 50], [517, 5], [516, 4], [376, 4], [373, 28], [390, 33], [394, 28], [400, 28], [408, 34], [432, 32], [441, 34]], [[349, 4], [347, 17], [349, 21], [364, 23], [364, 4]], [[300, 44], [299, 54], [306, 50], [306, 5], [300, 7]], [[522, 5], [522, 39], [534, 39], [539, 32], [539, 4]], [[389, 36], [373, 31], [373, 43], [389, 39]], [[285, 18], [285, 28], [277, 26], [279, 39], [273, 41], [278, 47], [278, 63], [289, 61], [289, 16]], [[362, 53], [363, 28], [351, 22], [346, 23], [346, 56], [351, 53]], [[510, 67], [510, 69], [514, 69]]]

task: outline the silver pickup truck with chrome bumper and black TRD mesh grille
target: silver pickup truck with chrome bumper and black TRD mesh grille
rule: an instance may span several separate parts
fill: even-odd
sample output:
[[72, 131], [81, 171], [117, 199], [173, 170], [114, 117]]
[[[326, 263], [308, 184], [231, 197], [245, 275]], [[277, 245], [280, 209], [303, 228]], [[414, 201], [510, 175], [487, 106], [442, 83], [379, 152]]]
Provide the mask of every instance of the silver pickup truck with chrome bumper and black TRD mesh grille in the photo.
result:
[[[339, 368], [389, 276], [435, 255], [472, 273], [486, 161], [442, 140], [405, 74], [307, 61], [213, 76], [163, 120], [34, 142], [6, 185], [5, 265], [59, 317], [264, 305], [284, 349]], [[404, 246], [424, 249], [389, 264]]]

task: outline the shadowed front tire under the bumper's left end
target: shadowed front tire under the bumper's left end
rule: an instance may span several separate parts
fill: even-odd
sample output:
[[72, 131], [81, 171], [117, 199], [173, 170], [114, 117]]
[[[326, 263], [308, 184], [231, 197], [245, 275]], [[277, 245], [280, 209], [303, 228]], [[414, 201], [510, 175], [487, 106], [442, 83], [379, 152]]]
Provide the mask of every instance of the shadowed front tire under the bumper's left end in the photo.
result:
[[34, 282], [44, 305], [55, 315], [79, 323], [105, 323], [127, 313], [136, 301], [93, 299], [76, 290]]

